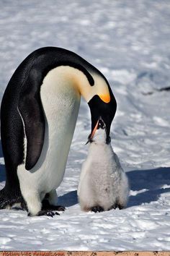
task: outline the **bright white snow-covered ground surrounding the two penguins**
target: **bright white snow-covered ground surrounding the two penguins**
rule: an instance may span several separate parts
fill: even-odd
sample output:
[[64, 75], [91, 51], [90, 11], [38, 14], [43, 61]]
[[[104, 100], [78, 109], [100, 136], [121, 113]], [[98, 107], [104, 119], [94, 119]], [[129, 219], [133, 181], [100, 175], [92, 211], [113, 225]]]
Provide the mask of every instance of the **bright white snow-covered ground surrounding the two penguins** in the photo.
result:
[[[0, 211], [1, 250], [170, 250], [170, 1], [0, 1], [0, 98], [36, 48], [75, 51], [109, 80], [117, 99], [112, 147], [130, 179], [125, 210], [83, 213], [76, 189], [91, 122], [81, 101], [61, 216]], [[0, 187], [4, 159], [0, 148]]]

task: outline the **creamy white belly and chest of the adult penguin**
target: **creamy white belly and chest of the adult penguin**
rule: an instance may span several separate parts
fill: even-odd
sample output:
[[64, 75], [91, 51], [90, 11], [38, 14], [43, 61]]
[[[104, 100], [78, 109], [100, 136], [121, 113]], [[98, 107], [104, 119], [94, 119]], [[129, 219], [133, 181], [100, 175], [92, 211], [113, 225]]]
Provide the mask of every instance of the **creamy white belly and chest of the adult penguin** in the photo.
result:
[[21, 190], [31, 187], [45, 195], [56, 189], [63, 179], [79, 113], [80, 95], [56, 68], [43, 80], [40, 97], [45, 114], [42, 153], [34, 168], [27, 171], [22, 164], [18, 167], [17, 174]]

